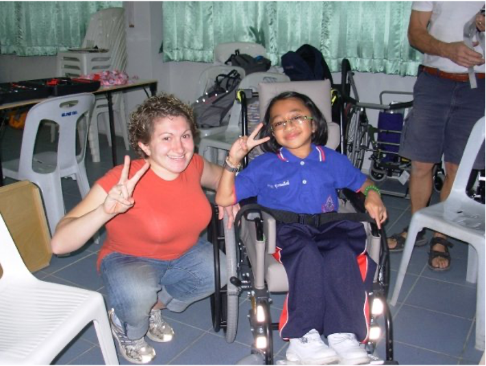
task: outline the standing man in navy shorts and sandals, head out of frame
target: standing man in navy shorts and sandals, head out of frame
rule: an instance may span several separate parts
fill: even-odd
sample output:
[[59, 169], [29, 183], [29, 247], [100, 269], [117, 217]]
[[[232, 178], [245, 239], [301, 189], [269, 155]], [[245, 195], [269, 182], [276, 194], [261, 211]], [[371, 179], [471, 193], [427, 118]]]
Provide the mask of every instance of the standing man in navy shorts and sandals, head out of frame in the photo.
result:
[[[413, 1], [409, 23], [410, 44], [424, 53], [413, 88], [413, 110], [405, 123], [400, 155], [411, 160], [411, 213], [426, 207], [432, 194], [433, 166], [442, 160], [446, 179], [440, 194], [444, 201], [452, 188], [462, 153], [474, 123], [485, 114], [485, 59], [483, 49], [463, 42], [465, 23], [476, 16], [476, 28], [485, 31], [481, 14], [485, 1]], [[477, 88], [472, 89], [468, 68], [474, 67]], [[485, 166], [483, 144], [474, 168]], [[391, 251], [403, 250], [407, 228], [389, 237]], [[424, 231], [415, 245], [426, 244]], [[430, 241], [429, 267], [450, 267], [452, 244], [440, 233]]]

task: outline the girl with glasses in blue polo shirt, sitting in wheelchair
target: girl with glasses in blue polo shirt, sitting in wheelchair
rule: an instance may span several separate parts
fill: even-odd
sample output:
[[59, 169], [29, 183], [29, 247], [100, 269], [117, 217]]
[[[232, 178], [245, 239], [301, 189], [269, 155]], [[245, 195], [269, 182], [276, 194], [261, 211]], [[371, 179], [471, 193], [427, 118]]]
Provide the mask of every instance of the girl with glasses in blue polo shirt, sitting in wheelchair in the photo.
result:
[[[289, 280], [279, 324], [281, 337], [290, 340], [287, 361], [358, 365], [369, 362], [359, 341], [368, 338], [367, 293], [376, 268], [366, 253], [366, 232], [360, 222], [320, 225], [309, 218], [337, 211], [336, 189], [342, 188], [365, 194], [379, 228], [387, 212], [379, 189], [326, 142], [327, 122], [314, 102], [297, 92], [279, 94], [264, 124], [231, 147], [216, 202], [228, 206], [256, 196], [259, 205], [303, 218], [277, 223], [276, 256]], [[266, 153], [235, 177], [240, 161], [258, 145]]]

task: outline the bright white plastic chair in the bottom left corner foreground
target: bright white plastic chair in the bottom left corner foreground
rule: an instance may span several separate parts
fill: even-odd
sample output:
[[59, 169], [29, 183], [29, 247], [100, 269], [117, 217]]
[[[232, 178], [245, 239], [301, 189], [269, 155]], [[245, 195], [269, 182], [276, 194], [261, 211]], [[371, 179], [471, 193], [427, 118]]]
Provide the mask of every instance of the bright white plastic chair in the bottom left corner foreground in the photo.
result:
[[49, 365], [91, 322], [105, 364], [118, 365], [103, 296], [34, 277], [1, 215], [0, 264], [0, 365]]

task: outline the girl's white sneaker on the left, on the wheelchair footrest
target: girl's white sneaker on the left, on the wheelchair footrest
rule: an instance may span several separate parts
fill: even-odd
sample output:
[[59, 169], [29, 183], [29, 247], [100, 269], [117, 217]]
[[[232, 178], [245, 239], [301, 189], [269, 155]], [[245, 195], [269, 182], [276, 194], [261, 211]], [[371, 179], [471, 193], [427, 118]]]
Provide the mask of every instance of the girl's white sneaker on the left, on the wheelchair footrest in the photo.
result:
[[309, 330], [302, 338], [290, 339], [287, 361], [300, 365], [328, 365], [337, 361], [337, 354], [320, 338], [315, 329]]

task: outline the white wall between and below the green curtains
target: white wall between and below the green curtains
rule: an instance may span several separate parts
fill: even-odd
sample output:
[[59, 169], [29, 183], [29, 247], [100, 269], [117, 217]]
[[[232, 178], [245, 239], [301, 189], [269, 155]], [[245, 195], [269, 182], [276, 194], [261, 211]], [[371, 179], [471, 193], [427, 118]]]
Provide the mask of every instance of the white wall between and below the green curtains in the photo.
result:
[[[194, 101], [201, 71], [208, 64], [201, 62], [163, 62], [159, 53], [162, 44], [162, 1], [124, 1], [125, 10], [133, 4], [133, 24], [127, 21], [127, 73], [140, 79], [157, 79], [158, 92], [171, 92], [186, 102]], [[0, 83], [41, 79], [55, 75], [55, 57], [16, 57], [0, 55]], [[340, 74], [333, 74], [340, 81]], [[411, 91], [415, 77], [400, 77], [373, 73], [356, 73], [355, 81], [363, 102], [379, 103], [383, 90]], [[146, 98], [142, 90], [127, 93], [127, 112]], [[398, 100], [398, 99], [397, 99]], [[368, 118], [376, 125], [378, 112], [369, 111]], [[100, 129], [103, 127], [100, 125]], [[369, 164], [366, 161], [366, 164]], [[366, 168], [367, 166], [365, 166]]]

